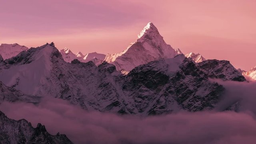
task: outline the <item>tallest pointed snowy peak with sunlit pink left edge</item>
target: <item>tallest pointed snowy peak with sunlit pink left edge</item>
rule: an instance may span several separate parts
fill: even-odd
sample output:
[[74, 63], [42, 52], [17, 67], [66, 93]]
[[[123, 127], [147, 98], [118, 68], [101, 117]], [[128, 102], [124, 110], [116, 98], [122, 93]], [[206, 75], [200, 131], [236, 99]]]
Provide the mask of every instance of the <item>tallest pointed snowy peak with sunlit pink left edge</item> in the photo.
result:
[[177, 54], [164, 42], [157, 28], [150, 22], [126, 50], [118, 54], [107, 54], [105, 61], [114, 64], [117, 70], [130, 71], [141, 64], [160, 58], [173, 58]]

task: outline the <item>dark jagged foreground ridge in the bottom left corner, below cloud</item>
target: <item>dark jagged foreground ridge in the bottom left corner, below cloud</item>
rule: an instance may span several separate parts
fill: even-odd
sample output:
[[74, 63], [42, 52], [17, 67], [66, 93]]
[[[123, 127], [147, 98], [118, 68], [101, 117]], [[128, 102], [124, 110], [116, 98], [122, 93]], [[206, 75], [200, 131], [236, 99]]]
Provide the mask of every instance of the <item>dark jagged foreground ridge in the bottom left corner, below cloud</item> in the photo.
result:
[[3, 112], [0, 112], [0, 141], [2, 144], [72, 144], [63, 134], [53, 136], [41, 124], [33, 128], [30, 122], [9, 119]]

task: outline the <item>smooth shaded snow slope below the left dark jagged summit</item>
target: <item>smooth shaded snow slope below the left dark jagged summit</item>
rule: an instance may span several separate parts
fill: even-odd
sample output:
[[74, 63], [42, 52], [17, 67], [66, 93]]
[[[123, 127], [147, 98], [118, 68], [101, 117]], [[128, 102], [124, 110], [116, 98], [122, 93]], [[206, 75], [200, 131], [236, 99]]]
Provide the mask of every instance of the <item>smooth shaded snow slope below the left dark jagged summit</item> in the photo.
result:
[[10, 87], [15, 85], [17, 90], [22, 90], [25, 94], [35, 95], [44, 91], [41, 86], [50, 86], [47, 78], [52, 69], [50, 60], [54, 52], [58, 50], [53, 43], [45, 44], [6, 60], [6, 66], [10, 68], [2, 70], [0, 81]]

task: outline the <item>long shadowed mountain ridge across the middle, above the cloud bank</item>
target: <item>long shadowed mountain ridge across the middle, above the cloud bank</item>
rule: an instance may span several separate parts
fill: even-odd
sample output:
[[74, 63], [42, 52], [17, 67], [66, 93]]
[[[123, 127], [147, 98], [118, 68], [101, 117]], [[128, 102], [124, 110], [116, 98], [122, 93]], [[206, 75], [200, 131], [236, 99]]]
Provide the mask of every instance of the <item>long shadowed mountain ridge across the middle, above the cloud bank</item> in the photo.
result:
[[224, 88], [208, 78], [244, 80], [229, 62], [196, 64], [182, 54], [140, 65], [123, 75], [107, 62], [99, 66], [92, 61], [67, 63], [53, 43], [30, 48], [3, 63], [0, 81], [26, 96], [52, 96], [86, 110], [121, 114], [211, 110]]

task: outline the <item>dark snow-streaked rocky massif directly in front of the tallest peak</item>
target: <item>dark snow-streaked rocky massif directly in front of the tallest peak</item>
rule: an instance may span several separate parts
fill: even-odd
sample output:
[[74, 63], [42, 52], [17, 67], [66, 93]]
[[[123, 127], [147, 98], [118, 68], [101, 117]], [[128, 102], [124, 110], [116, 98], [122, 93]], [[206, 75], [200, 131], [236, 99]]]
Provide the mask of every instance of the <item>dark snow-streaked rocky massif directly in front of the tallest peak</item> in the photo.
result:
[[[134, 68], [127, 75], [123, 89], [133, 97], [139, 113], [210, 110], [217, 104], [224, 88], [209, 82], [192, 61], [181, 55], [177, 57], [180, 58], [174, 59], [180, 59], [178, 62], [153, 61]], [[173, 70], [177, 63], [176, 70], [170, 72], [170, 67]]]

